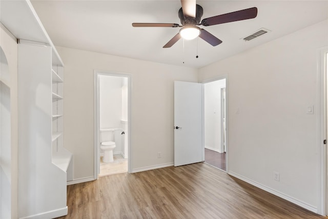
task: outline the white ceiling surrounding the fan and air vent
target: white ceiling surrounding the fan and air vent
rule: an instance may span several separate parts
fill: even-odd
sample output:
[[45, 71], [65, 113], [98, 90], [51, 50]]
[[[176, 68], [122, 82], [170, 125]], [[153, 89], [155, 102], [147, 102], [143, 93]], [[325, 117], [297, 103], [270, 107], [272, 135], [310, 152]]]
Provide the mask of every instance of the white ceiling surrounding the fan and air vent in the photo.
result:
[[[198, 38], [185, 41], [184, 49], [182, 39], [164, 49], [179, 28], [133, 28], [131, 23], [180, 24], [180, 1], [31, 2], [55, 46], [194, 68], [328, 18], [328, 1], [197, 1], [204, 10], [202, 19], [251, 7], [257, 7], [258, 14], [245, 21], [201, 26], [223, 41], [216, 47]], [[260, 28], [271, 32], [250, 42], [242, 40]]]

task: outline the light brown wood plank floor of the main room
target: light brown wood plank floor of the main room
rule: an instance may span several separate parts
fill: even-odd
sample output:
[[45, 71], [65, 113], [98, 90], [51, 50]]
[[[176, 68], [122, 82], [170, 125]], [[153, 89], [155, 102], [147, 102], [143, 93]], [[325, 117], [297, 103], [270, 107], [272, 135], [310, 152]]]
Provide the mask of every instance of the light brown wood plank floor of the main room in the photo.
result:
[[59, 218], [327, 218], [197, 163], [68, 186]]

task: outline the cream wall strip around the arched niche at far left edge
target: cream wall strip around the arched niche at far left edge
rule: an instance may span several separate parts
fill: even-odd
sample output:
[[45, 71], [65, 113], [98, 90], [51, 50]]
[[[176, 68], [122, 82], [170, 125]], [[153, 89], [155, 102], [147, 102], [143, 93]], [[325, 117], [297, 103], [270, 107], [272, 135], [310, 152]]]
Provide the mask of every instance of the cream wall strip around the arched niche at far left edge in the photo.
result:
[[[0, 46], [3, 49], [7, 62], [9, 74], [5, 76], [4, 69], [0, 69], [2, 86], [5, 85], [7, 90], [10, 90], [10, 130], [7, 130], [10, 133], [10, 145], [1, 145], [1, 180], [2, 186], [5, 185], [5, 191], [2, 190], [1, 194], [1, 206], [8, 207], [9, 212], [5, 212], [5, 209], [2, 209], [3, 218], [8, 218], [8, 213], [11, 214], [11, 218], [17, 218], [18, 212], [18, 200], [17, 200], [17, 188], [18, 188], [18, 159], [17, 159], [17, 41], [14, 36], [12, 36], [6, 28], [2, 25], [0, 27]], [[8, 104], [8, 103], [7, 103]], [[4, 121], [1, 121], [3, 123]], [[2, 124], [3, 125], [3, 124]], [[3, 142], [2, 142], [3, 143]], [[6, 147], [6, 150], [3, 150]], [[9, 148], [8, 148], [9, 147]], [[5, 181], [5, 182], [4, 182]], [[5, 183], [5, 184], [3, 184]], [[3, 193], [5, 192], [5, 193]], [[5, 198], [5, 203], [3, 203], [3, 198]], [[8, 199], [7, 199], [8, 198]], [[5, 215], [4, 215], [5, 213]]]

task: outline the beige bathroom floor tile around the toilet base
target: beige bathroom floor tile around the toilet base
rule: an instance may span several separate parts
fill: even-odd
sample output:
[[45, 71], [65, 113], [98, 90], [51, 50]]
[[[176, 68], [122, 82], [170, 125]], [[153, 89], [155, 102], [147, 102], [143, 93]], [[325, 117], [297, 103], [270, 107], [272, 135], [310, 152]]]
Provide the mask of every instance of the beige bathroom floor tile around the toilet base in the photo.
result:
[[100, 157], [99, 177], [125, 172], [128, 172], [128, 158], [124, 158], [120, 154], [114, 154], [114, 162], [104, 163], [103, 157]]

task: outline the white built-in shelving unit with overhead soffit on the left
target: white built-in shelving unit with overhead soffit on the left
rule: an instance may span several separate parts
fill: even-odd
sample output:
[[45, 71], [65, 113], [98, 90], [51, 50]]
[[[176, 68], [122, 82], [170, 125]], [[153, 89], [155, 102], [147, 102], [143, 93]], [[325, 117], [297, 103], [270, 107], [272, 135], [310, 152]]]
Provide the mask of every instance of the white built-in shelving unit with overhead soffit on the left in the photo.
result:
[[66, 215], [73, 156], [64, 147], [64, 64], [31, 2], [3, 1], [18, 38], [18, 217]]

